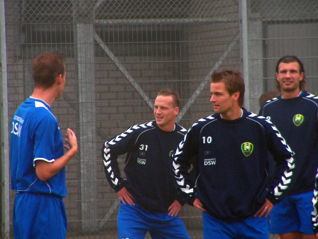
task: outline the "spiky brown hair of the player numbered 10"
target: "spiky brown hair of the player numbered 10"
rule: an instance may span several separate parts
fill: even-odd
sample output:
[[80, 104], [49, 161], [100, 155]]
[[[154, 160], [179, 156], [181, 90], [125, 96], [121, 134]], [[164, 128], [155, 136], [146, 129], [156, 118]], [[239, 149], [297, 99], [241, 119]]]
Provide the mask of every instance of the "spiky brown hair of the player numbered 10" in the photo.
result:
[[230, 96], [236, 92], [239, 92], [239, 106], [243, 105], [245, 85], [241, 72], [232, 70], [213, 72], [210, 82], [224, 82], [225, 88], [229, 92]]

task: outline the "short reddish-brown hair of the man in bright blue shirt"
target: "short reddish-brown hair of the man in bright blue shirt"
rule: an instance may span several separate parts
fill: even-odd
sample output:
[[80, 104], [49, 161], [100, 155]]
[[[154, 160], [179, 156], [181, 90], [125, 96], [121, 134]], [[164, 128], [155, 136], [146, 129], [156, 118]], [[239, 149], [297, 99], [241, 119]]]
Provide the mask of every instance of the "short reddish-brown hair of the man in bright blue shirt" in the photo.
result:
[[44, 52], [32, 62], [32, 76], [36, 87], [51, 87], [56, 77], [65, 74], [65, 58], [57, 52]]

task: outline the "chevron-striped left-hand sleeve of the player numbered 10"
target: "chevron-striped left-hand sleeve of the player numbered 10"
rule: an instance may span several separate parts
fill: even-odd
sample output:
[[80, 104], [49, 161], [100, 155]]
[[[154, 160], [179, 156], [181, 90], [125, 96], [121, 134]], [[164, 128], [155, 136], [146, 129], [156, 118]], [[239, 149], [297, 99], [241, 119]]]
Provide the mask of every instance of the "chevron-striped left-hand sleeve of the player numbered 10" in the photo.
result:
[[189, 174], [189, 169], [193, 157], [199, 152], [199, 132], [198, 123], [194, 123], [184, 136], [184, 139], [173, 151], [170, 157], [170, 167], [174, 176], [174, 183], [182, 195], [184, 201], [193, 206], [196, 189], [193, 179]]

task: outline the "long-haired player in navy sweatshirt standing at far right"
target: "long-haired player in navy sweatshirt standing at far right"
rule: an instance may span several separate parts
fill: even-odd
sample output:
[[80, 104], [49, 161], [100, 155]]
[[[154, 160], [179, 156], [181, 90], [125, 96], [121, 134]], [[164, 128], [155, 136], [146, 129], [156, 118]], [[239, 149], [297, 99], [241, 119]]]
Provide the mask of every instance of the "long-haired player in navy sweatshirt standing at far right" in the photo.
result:
[[[271, 120], [295, 152], [292, 183], [269, 218], [269, 232], [281, 239], [314, 239], [312, 197], [318, 167], [318, 98], [305, 91], [305, 70], [296, 56], [276, 64], [281, 96], [266, 102], [260, 115]], [[316, 218], [317, 224], [317, 218]]]

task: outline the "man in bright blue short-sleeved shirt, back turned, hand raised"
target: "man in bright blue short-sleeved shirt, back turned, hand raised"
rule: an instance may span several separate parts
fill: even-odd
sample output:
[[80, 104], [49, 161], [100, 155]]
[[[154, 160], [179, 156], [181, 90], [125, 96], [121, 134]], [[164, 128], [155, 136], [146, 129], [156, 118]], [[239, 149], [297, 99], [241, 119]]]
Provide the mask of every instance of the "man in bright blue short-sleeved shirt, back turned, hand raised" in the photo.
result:
[[65, 239], [67, 218], [64, 166], [78, 151], [67, 129], [64, 154], [58, 122], [51, 111], [66, 82], [64, 57], [42, 53], [32, 62], [35, 88], [14, 113], [10, 133], [11, 189], [15, 239]]

